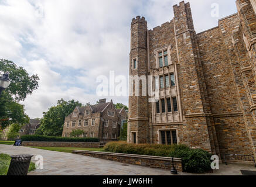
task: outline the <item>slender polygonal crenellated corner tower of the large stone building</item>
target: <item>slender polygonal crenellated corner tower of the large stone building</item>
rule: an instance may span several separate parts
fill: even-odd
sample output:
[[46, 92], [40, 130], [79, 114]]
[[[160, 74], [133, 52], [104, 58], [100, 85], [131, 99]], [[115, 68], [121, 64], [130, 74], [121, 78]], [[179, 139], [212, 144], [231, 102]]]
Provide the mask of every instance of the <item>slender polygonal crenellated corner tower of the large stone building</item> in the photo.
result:
[[[149, 111], [147, 90], [147, 22], [137, 16], [131, 23], [131, 53], [129, 63], [130, 95], [127, 141], [129, 143], [149, 143]], [[136, 85], [139, 80], [139, 85]], [[136, 92], [136, 89], [138, 91]], [[135, 93], [136, 92], [136, 93]]]

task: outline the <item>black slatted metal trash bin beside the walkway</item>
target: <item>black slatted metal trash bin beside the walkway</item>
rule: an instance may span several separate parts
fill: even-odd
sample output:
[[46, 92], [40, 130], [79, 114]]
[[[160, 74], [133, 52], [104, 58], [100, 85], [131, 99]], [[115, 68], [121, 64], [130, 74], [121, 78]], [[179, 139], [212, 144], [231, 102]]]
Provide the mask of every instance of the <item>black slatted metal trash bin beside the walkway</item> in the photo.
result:
[[12, 155], [7, 175], [28, 175], [29, 164], [33, 155]]

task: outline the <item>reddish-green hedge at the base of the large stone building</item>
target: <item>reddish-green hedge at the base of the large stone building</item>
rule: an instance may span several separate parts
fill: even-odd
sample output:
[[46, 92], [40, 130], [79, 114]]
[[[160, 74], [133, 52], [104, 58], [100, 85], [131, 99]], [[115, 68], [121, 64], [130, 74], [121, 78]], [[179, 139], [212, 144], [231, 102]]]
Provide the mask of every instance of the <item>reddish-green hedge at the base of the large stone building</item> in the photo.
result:
[[200, 174], [211, 171], [211, 154], [202, 149], [191, 149], [185, 145], [128, 144], [118, 141], [107, 143], [104, 150], [111, 153], [181, 158], [185, 172]]

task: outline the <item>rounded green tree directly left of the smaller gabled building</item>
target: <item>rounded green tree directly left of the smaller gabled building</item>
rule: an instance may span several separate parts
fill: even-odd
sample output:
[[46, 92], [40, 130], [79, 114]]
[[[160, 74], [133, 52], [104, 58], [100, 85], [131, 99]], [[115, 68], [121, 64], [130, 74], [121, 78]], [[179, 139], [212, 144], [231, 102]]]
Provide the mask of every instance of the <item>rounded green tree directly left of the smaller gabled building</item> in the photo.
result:
[[70, 115], [76, 106], [81, 107], [82, 104], [74, 100], [59, 100], [56, 106], [52, 106], [47, 112], [43, 112], [43, 118], [40, 120], [41, 125], [39, 129], [36, 130], [36, 134], [62, 136], [65, 117]]

